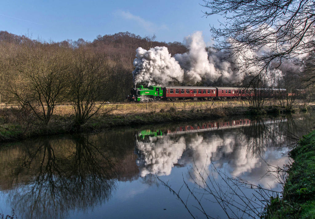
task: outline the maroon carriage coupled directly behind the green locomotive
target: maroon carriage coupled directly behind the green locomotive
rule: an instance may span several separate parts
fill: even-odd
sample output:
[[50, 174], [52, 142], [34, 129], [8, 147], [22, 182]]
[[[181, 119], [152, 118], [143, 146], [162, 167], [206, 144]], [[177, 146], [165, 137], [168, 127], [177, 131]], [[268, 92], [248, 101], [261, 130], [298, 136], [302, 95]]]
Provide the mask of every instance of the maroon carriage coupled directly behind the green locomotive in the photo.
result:
[[209, 100], [216, 97], [216, 87], [168, 86], [163, 88], [163, 98], [167, 100]]

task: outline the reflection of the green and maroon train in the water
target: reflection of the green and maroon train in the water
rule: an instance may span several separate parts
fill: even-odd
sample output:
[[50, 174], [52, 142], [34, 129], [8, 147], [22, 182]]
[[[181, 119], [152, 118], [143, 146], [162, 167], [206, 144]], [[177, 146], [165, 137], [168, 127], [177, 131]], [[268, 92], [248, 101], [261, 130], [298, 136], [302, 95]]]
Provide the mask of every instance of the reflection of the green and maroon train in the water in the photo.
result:
[[196, 124], [196, 125], [186, 125], [186, 126], [179, 126], [175, 128], [166, 129], [166, 131], [162, 131], [160, 129], [156, 131], [152, 130], [142, 130], [138, 133], [140, 139], [146, 139], [149, 137], [157, 137], [162, 136], [163, 134], [180, 134], [180, 133], [187, 133], [187, 132], [202, 132], [207, 130], [213, 129], [226, 129], [226, 128], [233, 128], [233, 127], [241, 127], [241, 126], [248, 126], [250, 124], [249, 119], [237, 119], [232, 121], [215, 121], [215, 122], [205, 122], [203, 124]]

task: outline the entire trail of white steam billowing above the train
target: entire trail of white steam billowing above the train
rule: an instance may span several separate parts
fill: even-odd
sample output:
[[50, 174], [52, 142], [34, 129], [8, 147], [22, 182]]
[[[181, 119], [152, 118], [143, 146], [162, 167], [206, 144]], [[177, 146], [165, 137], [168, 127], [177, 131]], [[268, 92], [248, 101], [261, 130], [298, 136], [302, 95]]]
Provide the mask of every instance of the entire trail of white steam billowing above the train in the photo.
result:
[[[273, 44], [268, 44], [255, 51], [244, 48], [237, 53], [237, 57], [229, 57], [227, 51], [217, 52], [207, 47], [200, 31], [185, 37], [184, 43], [188, 52], [175, 54], [173, 57], [166, 47], [154, 47], [150, 50], [139, 47], [134, 60], [136, 68], [132, 72], [134, 83], [145, 82], [149, 85], [162, 86], [174, 83], [194, 85], [196, 82], [202, 82], [204, 86], [237, 85], [245, 76], [256, 74], [260, 70], [258, 64], [246, 67], [249, 57], [263, 56], [273, 47]], [[235, 43], [234, 46], [237, 47]], [[233, 63], [238, 63], [244, 68], [238, 71]], [[275, 61], [270, 64], [264, 77], [269, 85], [274, 85], [276, 82], [270, 79], [278, 80], [278, 77], [281, 78], [289, 68], [294, 67], [293, 62]]]

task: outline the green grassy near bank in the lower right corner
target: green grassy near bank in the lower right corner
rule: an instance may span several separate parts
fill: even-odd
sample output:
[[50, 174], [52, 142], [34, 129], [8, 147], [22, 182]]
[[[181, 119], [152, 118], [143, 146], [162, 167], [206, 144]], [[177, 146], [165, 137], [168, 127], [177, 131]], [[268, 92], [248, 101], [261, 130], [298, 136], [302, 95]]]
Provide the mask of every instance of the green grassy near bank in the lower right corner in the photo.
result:
[[294, 160], [286, 171], [283, 197], [271, 198], [265, 219], [315, 218], [315, 130], [290, 151]]

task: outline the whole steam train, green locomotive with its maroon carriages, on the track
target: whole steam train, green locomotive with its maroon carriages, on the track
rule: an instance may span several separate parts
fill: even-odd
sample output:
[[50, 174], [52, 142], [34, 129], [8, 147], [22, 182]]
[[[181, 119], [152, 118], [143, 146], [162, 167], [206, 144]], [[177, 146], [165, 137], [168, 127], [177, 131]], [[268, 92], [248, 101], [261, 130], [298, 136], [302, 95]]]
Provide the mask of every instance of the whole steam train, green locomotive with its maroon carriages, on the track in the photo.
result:
[[155, 100], [213, 100], [213, 99], [239, 99], [259, 93], [262, 97], [285, 96], [285, 89], [248, 89], [239, 87], [195, 87], [195, 86], [149, 86], [144, 88], [140, 85], [138, 88], [131, 89], [129, 101], [155, 101]]

